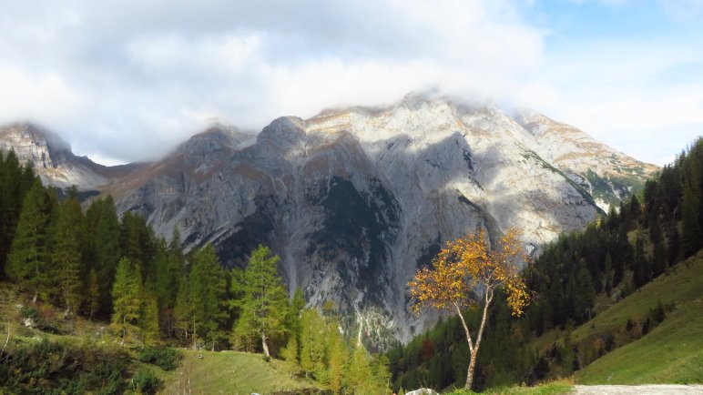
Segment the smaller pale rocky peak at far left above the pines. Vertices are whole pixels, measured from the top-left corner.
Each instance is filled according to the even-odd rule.
[[[94,191],[113,177],[125,176],[139,165],[104,167],[87,157],[76,157],[71,147],[54,133],[31,123],[0,127],[0,150],[15,150],[20,162],[29,162],[46,185],[76,186]]]

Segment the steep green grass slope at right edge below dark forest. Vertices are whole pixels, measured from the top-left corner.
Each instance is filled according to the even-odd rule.
[[[666,319],[621,348],[576,372],[582,384],[703,382],[703,251],[576,329],[573,340],[616,331],[627,319],[643,319],[657,305],[673,304]]]

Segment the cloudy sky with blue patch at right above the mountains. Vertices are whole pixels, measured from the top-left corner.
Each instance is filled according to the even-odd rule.
[[[0,123],[158,157],[438,88],[531,107],[662,165],[703,135],[703,0],[0,0]]]

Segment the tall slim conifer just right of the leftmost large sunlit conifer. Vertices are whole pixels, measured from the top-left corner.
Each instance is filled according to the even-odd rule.
[[[56,274],[57,290],[66,313],[77,311],[81,303],[80,225],[83,213],[76,198],[77,191],[56,208],[56,222],[52,227],[52,267]]]

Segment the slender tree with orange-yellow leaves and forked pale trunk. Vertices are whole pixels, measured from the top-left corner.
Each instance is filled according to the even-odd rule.
[[[509,229],[497,240],[494,248],[487,242],[483,229],[449,241],[434,258],[433,267],[418,270],[408,284],[416,314],[427,308],[448,309],[461,319],[471,353],[464,386],[467,390],[471,389],[474,380],[476,355],[495,289],[504,289],[507,303],[515,316],[522,315],[529,301],[525,281],[519,273],[518,263],[526,257],[518,235],[517,229]],[[479,299],[473,298],[482,293]],[[484,314],[474,338],[462,309],[479,307],[481,299]]]

